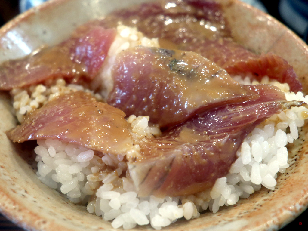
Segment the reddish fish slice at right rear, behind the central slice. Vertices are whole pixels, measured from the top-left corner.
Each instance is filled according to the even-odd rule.
[[[288,83],[290,91],[302,91],[302,83],[298,80],[293,67],[273,53],[256,55],[230,39],[205,40],[182,48],[201,54],[230,75],[249,76],[258,81],[267,75],[280,83]]]

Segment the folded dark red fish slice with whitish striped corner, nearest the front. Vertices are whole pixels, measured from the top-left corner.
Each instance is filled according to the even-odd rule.
[[[293,104],[293,105],[292,105]],[[300,102],[226,105],[196,115],[156,139],[140,142],[128,169],[139,196],[191,195],[227,175],[243,139],[265,118]]]

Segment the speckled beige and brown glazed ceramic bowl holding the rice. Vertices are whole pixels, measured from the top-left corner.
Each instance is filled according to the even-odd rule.
[[[149,1],[149,0],[148,0]],[[221,2],[234,38],[260,54],[273,52],[294,66],[308,93],[308,47],[274,18],[237,0]],[[144,0],[51,0],[31,9],[0,29],[0,62],[29,54],[42,44],[54,45],[89,19]],[[0,212],[29,230],[114,230],[111,223],[74,205],[41,183],[29,164],[26,149],[7,139],[14,127],[9,95],[0,93]],[[262,188],[236,205],[198,219],[180,220],[164,230],[278,230],[308,205],[308,124],[289,146],[286,173],[278,176],[275,190]],[[151,230],[150,226],[133,230]]]

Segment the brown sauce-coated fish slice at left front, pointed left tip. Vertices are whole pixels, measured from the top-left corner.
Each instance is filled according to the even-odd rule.
[[[7,132],[14,142],[55,139],[104,153],[133,150],[124,112],[97,102],[89,93],[61,95],[33,111],[26,120]]]

